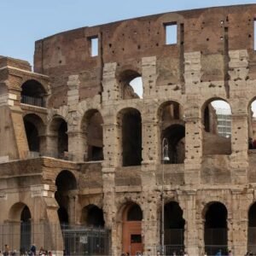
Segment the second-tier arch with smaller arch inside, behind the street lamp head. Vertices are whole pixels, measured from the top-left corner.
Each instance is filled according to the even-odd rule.
[[[177,102],[165,102],[159,108],[158,118],[160,120],[160,141],[166,138],[168,142],[170,160],[165,160],[165,164],[182,164],[185,159],[183,108]]]

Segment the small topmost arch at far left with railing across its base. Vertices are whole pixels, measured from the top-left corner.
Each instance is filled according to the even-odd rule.
[[[21,103],[45,107],[45,96],[43,85],[36,80],[27,80],[21,85]]]

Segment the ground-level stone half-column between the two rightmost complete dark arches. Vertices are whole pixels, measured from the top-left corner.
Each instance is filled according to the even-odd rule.
[[[187,190],[186,195],[180,195],[179,201],[185,219],[184,244],[189,255],[200,255],[198,247],[198,227],[196,224],[196,191]]]

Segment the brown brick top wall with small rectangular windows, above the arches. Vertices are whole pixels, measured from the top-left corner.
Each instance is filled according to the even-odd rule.
[[[141,73],[143,57],[156,56],[157,85],[183,83],[183,55],[201,52],[202,81],[224,80],[228,51],[247,49],[251,79],[256,78],[253,21],[256,4],[195,9],[123,20],[61,32],[36,42],[34,69],[51,78],[52,107],[67,105],[67,79],[79,74],[80,100],[102,91],[102,67]],[[177,24],[177,44],[166,44],[166,24]],[[90,56],[90,38],[99,39],[99,53]]]

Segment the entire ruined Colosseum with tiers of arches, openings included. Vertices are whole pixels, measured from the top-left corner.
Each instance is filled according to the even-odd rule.
[[[1,56],[0,250],[256,253],[255,20],[249,4],[85,26],[38,40],[33,72]]]

